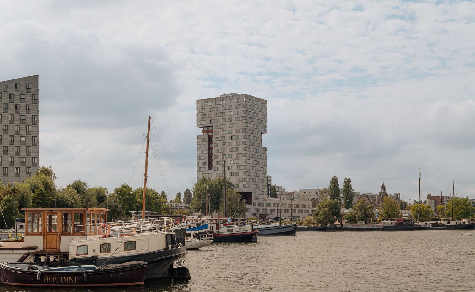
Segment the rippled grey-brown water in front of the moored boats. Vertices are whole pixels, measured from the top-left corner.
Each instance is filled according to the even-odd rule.
[[[190,250],[185,265],[188,282],[47,291],[474,292],[475,237],[450,230],[297,232]],[[45,289],[0,287],[7,291]]]

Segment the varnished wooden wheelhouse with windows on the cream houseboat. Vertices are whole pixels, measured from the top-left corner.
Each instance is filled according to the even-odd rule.
[[[40,251],[68,251],[72,238],[97,235],[105,223],[104,208],[22,208],[25,211],[25,246]]]

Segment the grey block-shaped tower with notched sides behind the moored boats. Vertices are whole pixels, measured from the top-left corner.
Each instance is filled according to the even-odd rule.
[[[252,205],[253,195],[267,196],[267,147],[261,145],[267,133],[267,101],[228,93],[196,101],[196,178],[216,179],[224,175]],[[249,212],[247,212],[249,213]]]

